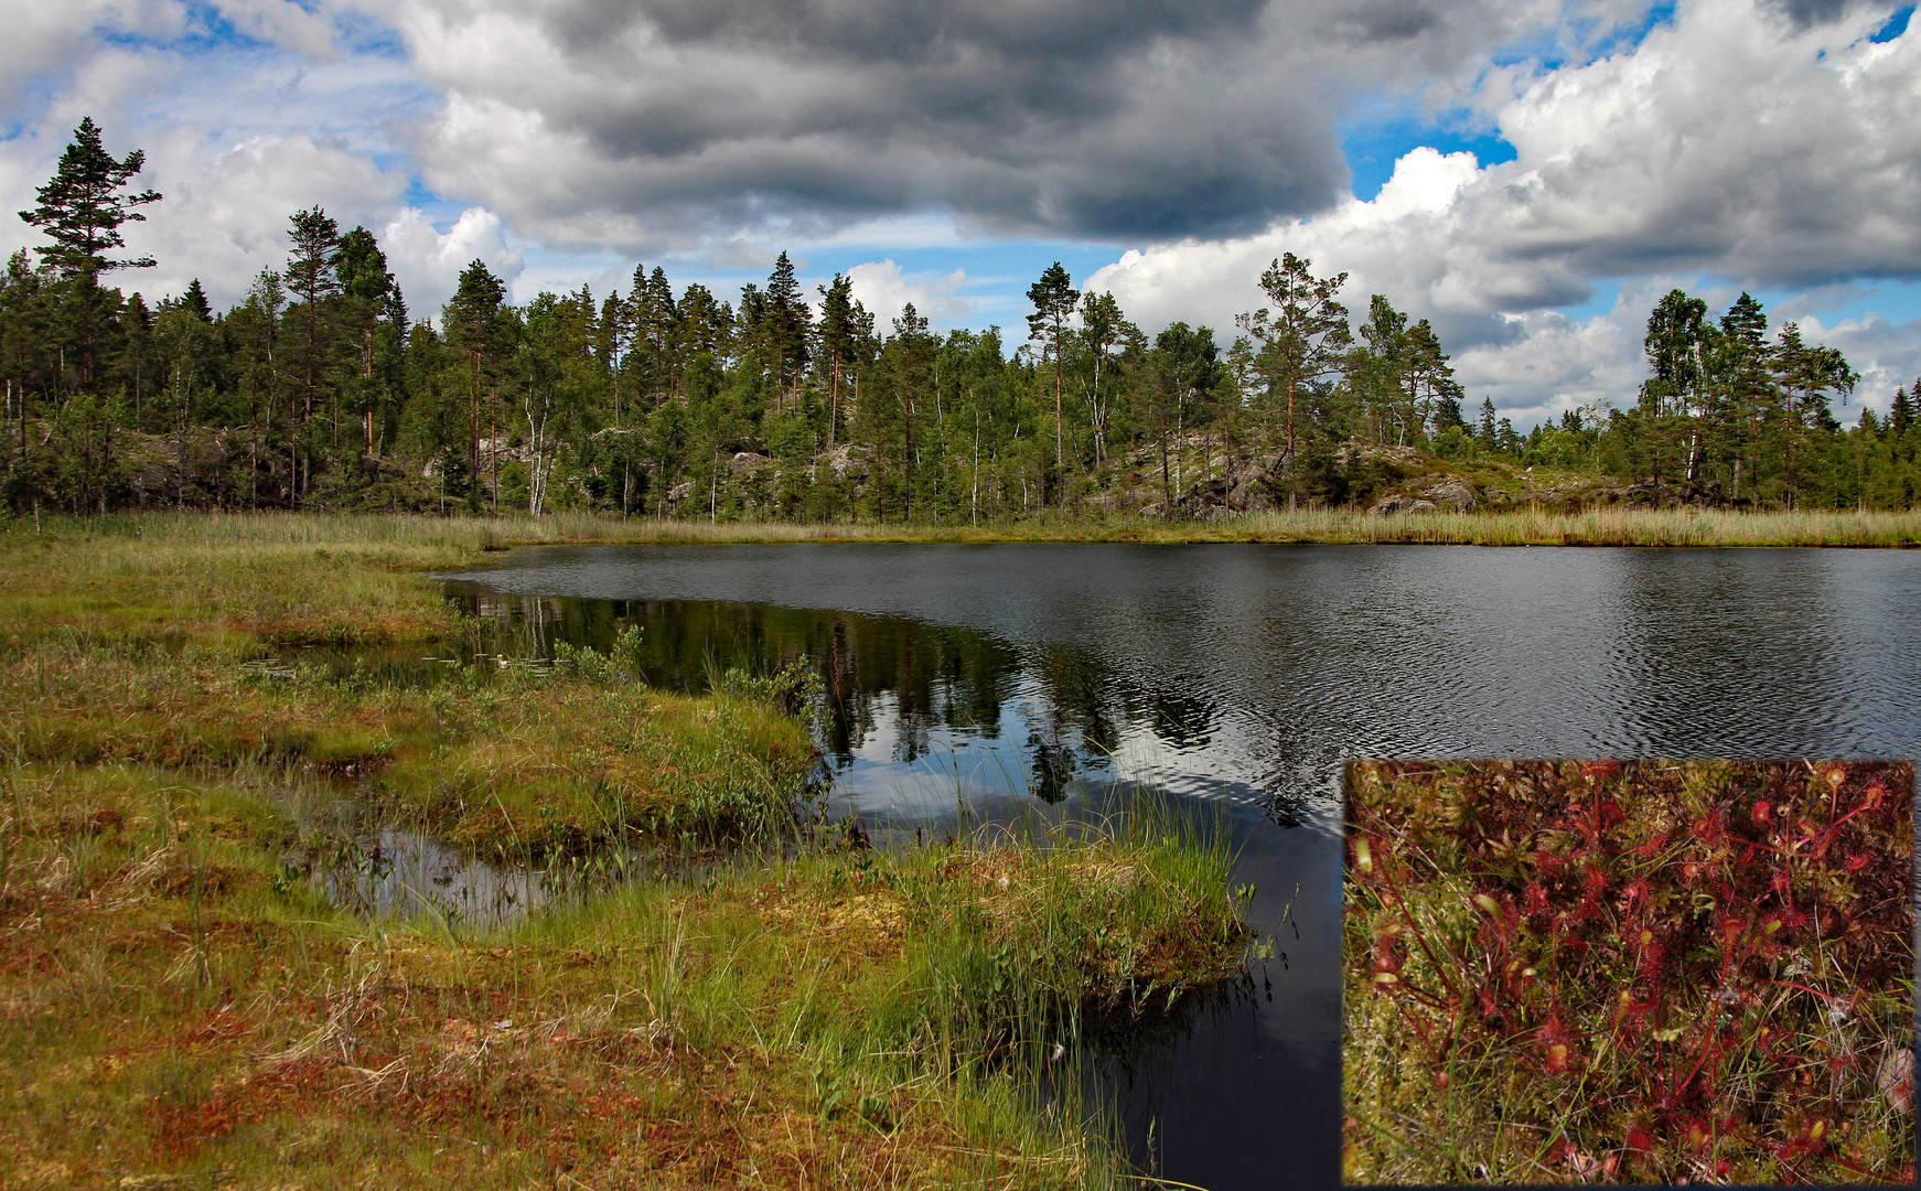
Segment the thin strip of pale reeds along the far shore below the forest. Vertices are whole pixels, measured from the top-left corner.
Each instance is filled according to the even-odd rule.
[[[10,534],[33,534],[15,521]],[[44,519],[42,534],[152,538],[177,557],[246,542],[263,569],[282,551],[340,549],[375,567],[453,569],[505,546],[724,544],[724,542],[1301,542],[1383,546],[1921,546],[1921,511],[1735,513],[1719,509],[1594,509],[1579,513],[1412,513],[1354,509],[1247,513],[1214,521],[1130,517],[1030,519],[999,524],[707,523],[586,513],[526,517],[330,517],[286,513],[129,513]],[[119,557],[119,555],[115,555]],[[313,626],[327,632],[325,622]],[[405,628],[396,624],[394,628]]]

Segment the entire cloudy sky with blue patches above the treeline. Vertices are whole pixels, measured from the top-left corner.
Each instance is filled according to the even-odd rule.
[[[238,302],[321,206],[415,317],[847,273],[1026,334],[1053,261],[1233,336],[1293,252],[1429,319],[1470,407],[1629,405],[1648,311],[1752,292],[1885,411],[1921,377],[1921,27],[1867,0],[12,0],[0,200],[90,115],[150,298]],[[40,236],[0,221],[0,250]]]

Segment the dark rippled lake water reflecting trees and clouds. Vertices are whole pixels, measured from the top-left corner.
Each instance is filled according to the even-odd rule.
[[[1139,1155],[1214,1191],[1339,1181],[1343,759],[1921,753],[1921,553],[580,547],[455,590],[536,640],[636,619],[670,686],[815,661],[876,830],[1135,780],[1214,809],[1287,962],[1114,1072]]]

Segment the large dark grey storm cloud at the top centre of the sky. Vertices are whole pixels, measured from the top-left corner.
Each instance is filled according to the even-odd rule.
[[[517,221],[611,207],[682,236],[889,211],[1028,234],[1251,232],[1345,194],[1343,94],[1418,90],[1535,8],[1558,13],[1544,0],[415,2],[453,33],[478,29],[476,12],[505,17],[557,58],[528,81],[421,54],[450,92],[532,111],[542,134],[588,150],[592,169],[557,165],[582,184]],[[442,165],[455,182],[488,173]]]

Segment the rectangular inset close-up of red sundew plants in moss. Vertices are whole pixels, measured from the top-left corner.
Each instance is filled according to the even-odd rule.
[[[1913,1183],[1913,766],[1356,763],[1345,1174]]]

